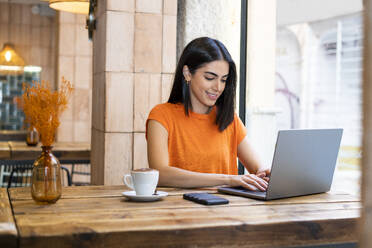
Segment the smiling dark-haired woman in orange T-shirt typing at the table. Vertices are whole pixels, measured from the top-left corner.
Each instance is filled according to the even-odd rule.
[[[234,113],[235,89],[235,63],[220,41],[202,37],[185,47],[168,103],[155,106],[146,123],[159,185],[266,190],[270,170],[260,166]],[[237,157],[249,174],[237,175]]]

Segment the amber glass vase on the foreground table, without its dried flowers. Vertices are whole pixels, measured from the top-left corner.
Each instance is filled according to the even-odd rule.
[[[52,154],[52,146],[42,146],[32,168],[32,198],[39,203],[55,203],[62,194],[61,165]]]

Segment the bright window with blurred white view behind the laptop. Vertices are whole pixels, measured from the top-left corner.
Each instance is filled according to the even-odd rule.
[[[344,128],[339,169],[360,165],[362,24],[357,13],[277,30],[277,127]]]

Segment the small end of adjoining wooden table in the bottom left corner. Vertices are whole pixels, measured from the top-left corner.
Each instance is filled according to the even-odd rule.
[[[8,193],[0,188],[0,247],[17,247],[17,235]]]

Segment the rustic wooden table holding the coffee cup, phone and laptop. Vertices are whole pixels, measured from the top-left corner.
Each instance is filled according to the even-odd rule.
[[[68,187],[56,204],[37,205],[28,188],[10,189],[10,200],[0,189],[0,247],[298,247],[357,241],[361,205],[346,193],[269,202],[223,195],[229,205],[203,206],[182,194],[215,189],[158,190],[169,196],[138,203],[121,196],[124,186]]]

